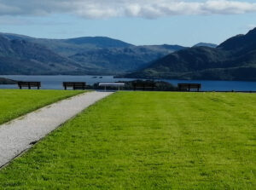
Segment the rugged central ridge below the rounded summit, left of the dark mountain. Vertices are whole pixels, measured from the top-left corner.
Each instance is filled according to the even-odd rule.
[[[152,60],[157,60],[176,50],[184,49],[181,46],[130,46],[126,48],[90,49],[69,58],[82,65],[90,63],[102,67],[106,72],[131,72],[149,66]]]

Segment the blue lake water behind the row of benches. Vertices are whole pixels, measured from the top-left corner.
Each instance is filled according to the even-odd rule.
[[[113,76],[26,76],[2,75],[0,78],[9,78],[22,81],[41,81],[42,89],[63,89],[62,82],[114,83],[118,81],[131,81],[131,78],[113,78]],[[174,85],[177,83],[201,83],[204,91],[256,91],[256,82],[245,81],[204,81],[204,80],[163,80]],[[17,85],[0,85],[0,89],[17,89]]]

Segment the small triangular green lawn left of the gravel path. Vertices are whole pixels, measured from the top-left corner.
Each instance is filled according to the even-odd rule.
[[[0,124],[55,101],[78,95],[74,90],[0,89]]]

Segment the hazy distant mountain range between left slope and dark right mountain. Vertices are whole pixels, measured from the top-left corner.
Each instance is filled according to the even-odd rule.
[[[157,60],[160,57],[168,55],[176,50],[184,49],[184,47],[182,46],[172,46],[166,44],[152,46],[135,46],[131,43],[125,43],[109,37],[44,39],[9,33],[0,33],[0,36],[9,39],[9,41],[23,40],[27,43],[38,44],[38,46],[44,47],[44,49],[48,49],[49,51],[51,51],[51,53],[62,57],[62,59],[68,61],[72,65],[80,66],[82,69],[77,69],[77,71],[81,74],[103,75],[134,72],[138,69],[142,69],[143,67],[148,66],[153,60]],[[33,49],[27,50],[33,52]],[[24,51],[26,51],[26,49],[24,49]],[[34,54],[36,55],[37,53],[34,52]],[[16,60],[9,60],[10,65],[12,61]],[[61,64],[62,61],[60,60],[58,63]],[[34,69],[37,69],[37,67],[35,67]],[[38,69],[38,74],[40,74],[39,70],[41,69]],[[50,73],[63,73],[62,71],[58,71],[61,70],[55,70]],[[32,73],[34,72],[27,72],[27,74]],[[44,73],[45,72],[42,71],[41,74]],[[66,73],[77,72],[69,69]]]

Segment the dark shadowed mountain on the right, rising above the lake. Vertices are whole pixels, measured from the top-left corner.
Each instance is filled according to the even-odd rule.
[[[231,37],[217,48],[182,49],[125,78],[256,81],[256,28]]]

